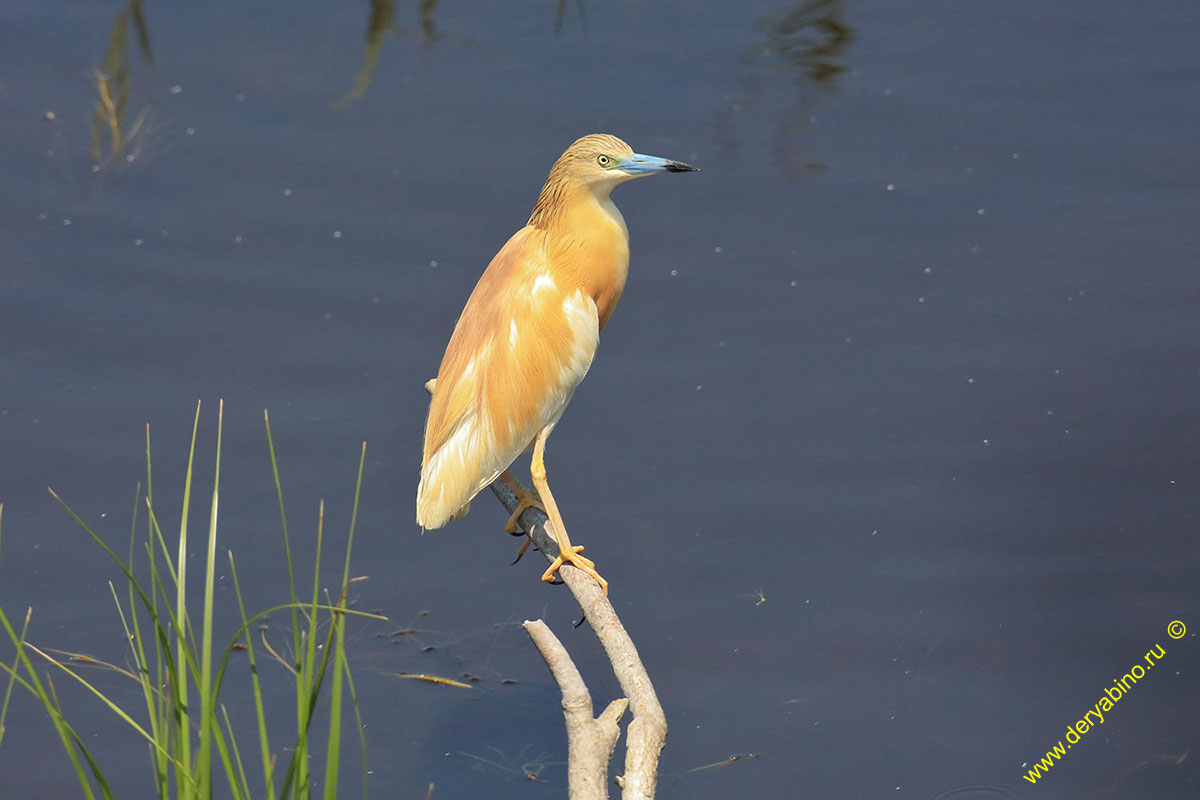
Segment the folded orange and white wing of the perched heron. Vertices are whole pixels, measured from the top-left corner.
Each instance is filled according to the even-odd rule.
[[[520,230],[475,285],[438,369],[418,522],[440,528],[562,416],[599,339],[594,300]]]

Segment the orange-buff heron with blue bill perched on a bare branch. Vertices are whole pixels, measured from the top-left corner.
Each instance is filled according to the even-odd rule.
[[[608,582],[571,545],[546,477],[546,440],[592,366],[600,331],[629,273],[629,229],[610,193],[628,180],[690,173],[680,161],[646,156],[614,136],[593,133],[554,162],[529,221],[492,258],[467,299],[437,378],[426,384],[416,522],[424,530],[466,516],[470,500],[526,450],[538,497],[518,493],[506,529],[529,507],[546,512],[563,564]],[[520,486],[520,485],[517,485]]]

